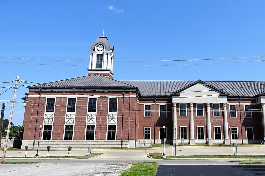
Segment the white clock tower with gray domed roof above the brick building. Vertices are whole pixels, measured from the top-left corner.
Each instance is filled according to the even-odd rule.
[[[88,53],[90,53],[88,75],[100,74],[113,78],[114,46],[109,44],[104,34],[95,40]]]

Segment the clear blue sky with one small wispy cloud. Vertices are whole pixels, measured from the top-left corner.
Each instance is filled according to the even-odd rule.
[[[71,59],[86,62],[0,58],[0,82],[45,83],[87,75],[90,45],[103,28],[115,60],[172,60],[265,55],[264,1],[0,1],[0,57]],[[212,65],[115,67],[220,63],[264,58],[122,63],[117,80],[263,80],[264,62]],[[1,63],[2,62],[2,63]],[[44,66],[42,63],[85,66]],[[1,84],[11,86],[11,84]],[[0,88],[2,93],[5,88]],[[18,89],[16,101],[28,90]],[[12,100],[10,89],[0,100]],[[4,118],[9,118],[11,103]],[[16,103],[13,123],[22,124]]]

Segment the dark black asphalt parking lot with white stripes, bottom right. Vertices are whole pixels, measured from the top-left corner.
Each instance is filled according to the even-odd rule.
[[[265,165],[160,165],[156,176],[265,175]]]

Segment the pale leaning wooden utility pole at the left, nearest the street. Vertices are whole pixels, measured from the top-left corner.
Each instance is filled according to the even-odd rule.
[[[4,152],[3,152],[3,157],[2,157],[2,163],[5,162],[5,158],[6,158],[7,142],[8,142],[9,133],[10,133],[10,128],[11,128],[11,122],[12,122],[14,103],[15,103],[16,93],[17,93],[17,88],[18,88],[19,76],[17,76],[17,78],[16,78],[15,81],[16,81],[16,83],[15,83],[15,88],[14,88],[13,101],[12,101],[12,105],[11,105],[11,111],[10,111],[9,122],[8,122],[7,136],[6,136],[6,140],[5,140],[5,146],[4,146]]]

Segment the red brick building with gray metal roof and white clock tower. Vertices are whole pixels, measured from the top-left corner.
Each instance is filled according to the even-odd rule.
[[[29,86],[24,146],[124,147],[162,143],[259,143],[265,82],[117,81],[105,36],[90,48],[88,75]],[[39,125],[42,128],[39,131]]]

